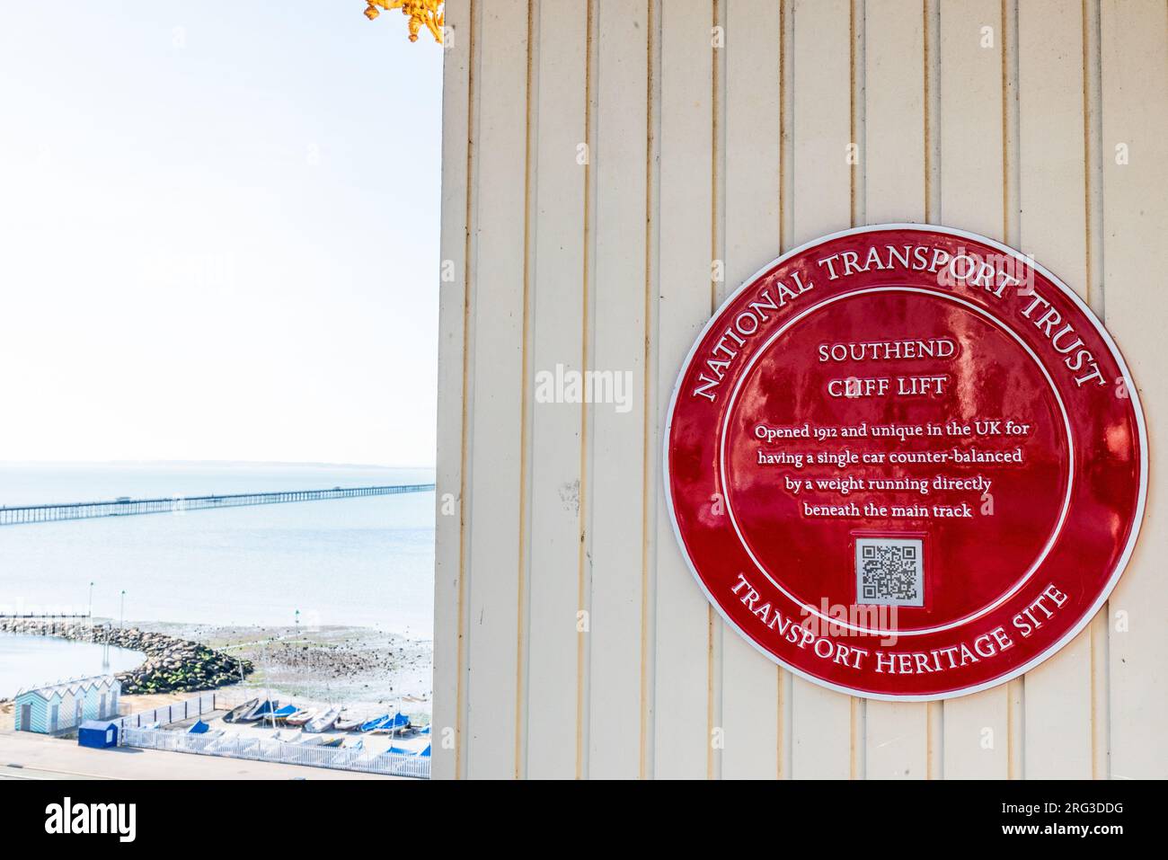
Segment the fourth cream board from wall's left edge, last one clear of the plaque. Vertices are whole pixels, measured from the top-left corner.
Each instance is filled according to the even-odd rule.
[[[597,4],[596,305],[593,365],[626,401],[593,411],[592,596],[588,775],[633,778],[640,733],[645,533],[646,79],[648,5]],[[635,707],[634,707],[635,706]],[[610,731],[613,721],[628,728]]]

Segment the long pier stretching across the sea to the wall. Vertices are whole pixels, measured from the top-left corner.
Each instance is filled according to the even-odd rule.
[[[21,507],[0,507],[0,526],[16,526],[27,522],[58,522],[61,520],[89,520],[98,516],[183,513],[186,511],[243,507],[245,505],[283,505],[292,501],[327,501],[329,499],[357,499],[369,495],[425,493],[433,488],[433,484],[396,484],[378,487],[286,490],[272,493],[235,493],[230,495],[175,495],[162,499],[120,498],[113,501],[26,505]]]

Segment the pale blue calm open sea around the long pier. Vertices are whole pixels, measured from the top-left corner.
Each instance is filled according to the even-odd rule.
[[[423,484],[432,470],[0,465],[0,505]],[[0,527],[0,613],[376,626],[432,637],[433,493]],[[0,652],[2,659],[2,652]]]

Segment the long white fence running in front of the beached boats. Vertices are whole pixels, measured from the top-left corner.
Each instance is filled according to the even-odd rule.
[[[164,709],[165,710],[165,709]],[[181,719],[181,717],[175,717]],[[145,722],[153,722],[144,720]],[[246,737],[242,735],[192,735],[186,731],[140,729],[123,727],[120,742],[127,747],[162,749],[172,752],[195,752],[199,755],[224,756],[227,758],[250,758],[257,762],[281,764],[306,764],[312,768],[334,770],[357,770],[388,776],[412,776],[430,778],[430,757],[390,752],[369,752],[343,747],[307,747],[285,743],[271,737]]]

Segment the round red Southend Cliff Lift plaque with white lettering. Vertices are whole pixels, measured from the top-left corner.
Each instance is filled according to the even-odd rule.
[[[922,224],[774,261],[677,379],[666,498],[690,570],[771,659],[945,699],[1069,641],[1147,494],[1135,386],[1083,301],[992,240]]]

